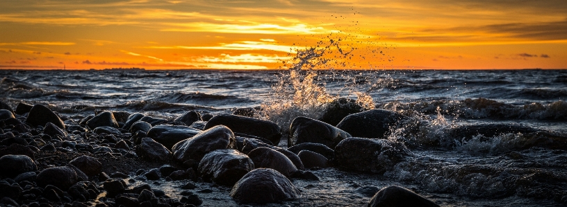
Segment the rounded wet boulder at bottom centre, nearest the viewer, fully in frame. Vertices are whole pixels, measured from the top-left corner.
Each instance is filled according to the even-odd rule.
[[[301,195],[283,174],[273,169],[261,168],[248,172],[234,184],[230,196],[240,204],[266,204],[296,199]]]

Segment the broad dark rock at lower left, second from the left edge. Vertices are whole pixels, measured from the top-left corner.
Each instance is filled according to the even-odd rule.
[[[35,179],[35,183],[37,183],[39,187],[44,188],[47,185],[51,185],[62,190],[69,189],[69,187],[73,186],[77,181],[75,170],[67,166],[44,169]]]

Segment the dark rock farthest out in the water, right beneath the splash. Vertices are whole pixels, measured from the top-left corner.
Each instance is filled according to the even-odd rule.
[[[364,108],[350,98],[338,98],[325,105],[323,115],[319,119],[324,123],[336,126],[346,116],[363,111]]]

